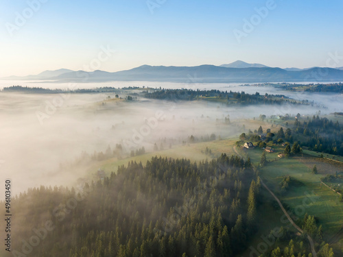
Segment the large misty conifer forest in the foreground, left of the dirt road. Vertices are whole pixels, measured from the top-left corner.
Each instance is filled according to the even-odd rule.
[[[235,256],[255,232],[255,180],[249,161],[222,154],[198,164],[130,162],[80,192],[29,189],[12,201],[12,247],[20,251],[50,220],[54,230],[32,247],[33,256]]]

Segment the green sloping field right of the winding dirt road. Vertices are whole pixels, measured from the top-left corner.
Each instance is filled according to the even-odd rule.
[[[260,175],[265,178],[271,190],[280,192],[282,177],[290,175],[300,182],[299,186],[288,189],[280,199],[292,209],[298,218],[305,213],[318,218],[324,230],[325,238],[330,238],[343,226],[343,203],[339,196],[320,183],[322,175],[314,175],[299,158],[281,159],[268,163],[261,169]]]

